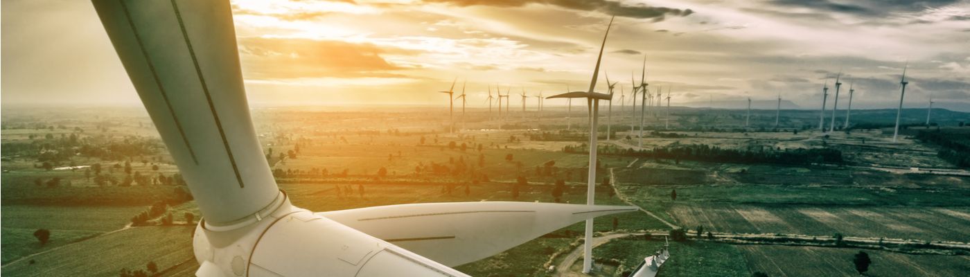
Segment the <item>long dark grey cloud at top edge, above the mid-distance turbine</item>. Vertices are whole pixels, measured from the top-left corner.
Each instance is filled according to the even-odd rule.
[[[632,18],[646,18],[661,21],[670,16],[687,16],[694,14],[691,9],[681,10],[665,7],[653,7],[644,4],[626,5],[609,0],[424,0],[425,3],[447,3],[450,5],[494,6],[494,7],[522,7],[528,4],[553,5],[566,9],[580,11],[596,11],[606,15],[617,15]]]

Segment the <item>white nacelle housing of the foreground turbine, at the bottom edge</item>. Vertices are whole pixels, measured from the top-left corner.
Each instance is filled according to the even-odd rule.
[[[243,266],[247,276],[468,276],[307,210],[277,219]]]

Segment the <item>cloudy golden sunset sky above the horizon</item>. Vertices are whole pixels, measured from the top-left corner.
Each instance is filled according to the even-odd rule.
[[[88,1],[0,3],[4,106],[140,104]],[[908,64],[906,107],[932,97],[934,107],[970,109],[970,0],[231,3],[254,107],[446,106],[436,91],[456,78],[469,108],[487,107],[495,86],[585,90],[616,15],[597,90],[608,76],[628,101],[645,58],[646,81],[674,106],[780,95],[818,108],[841,72],[842,101],[852,84],[854,108],[894,108]]]

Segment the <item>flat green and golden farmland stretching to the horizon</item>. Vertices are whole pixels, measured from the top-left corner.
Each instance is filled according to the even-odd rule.
[[[98,119],[46,117],[69,111]],[[595,230],[604,236],[633,234],[605,241],[595,249],[594,258],[602,265],[597,276],[629,270],[656,250],[663,243],[658,234],[671,229],[662,220],[692,234],[703,227],[724,236],[750,233],[827,238],[840,233],[914,243],[970,242],[970,177],[947,173],[959,169],[937,156],[938,146],[905,137],[902,143],[893,144],[878,129],[823,135],[805,128],[758,131],[679,126],[695,122],[688,120],[696,116],[692,112],[695,110],[680,112],[678,116],[684,120],[676,120],[674,130],[656,132],[656,125],[648,128],[642,148],[637,146],[638,132],[630,132],[621,124],[614,126],[615,139],[601,141],[601,145],[643,153],[673,145],[716,145],[744,151],[828,148],[840,151],[844,162],[776,165],[600,153],[596,202],[635,204],[650,214],[631,212],[596,221]],[[197,220],[201,214],[194,201],[185,200],[178,169],[146,115],[124,109],[67,109],[51,114],[4,114],[4,125],[9,129],[2,136],[5,152],[0,176],[2,273],[111,276],[123,268],[144,269],[147,262],[156,262],[164,276],[191,276],[198,263],[188,239],[191,228],[183,226],[182,215],[189,213]],[[564,112],[549,114],[548,118],[554,118]],[[865,113],[861,114],[865,118]],[[578,112],[572,115],[571,131],[566,130],[565,122],[548,118],[545,122],[531,118],[502,122],[489,116],[471,116],[469,130],[458,134],[443,131],[447,127],[441,118],[446,116],[441,113],[407,108],[372,115],[358,110],[267,108],[255,109],[253,115],[280,189],[295,205],[309,210],[445,201],[553,202],[557,200],[553,191],[559,180],[565,184],[560,201],[586,201],[587,155],[564,151],[566,147],[582,147],[586,136]],[[721,120],[730,118],[735,117]],[[798,120],[811,122],[800,117],[789,119]],[[78,138],[77,142],[71,142],[71,135]],[[601,135],[600,139],[605,137]],[[43,148],[39,145],[44,143],[63,146],[58,149],[89,150],[83,152],[88,154],[72,156],[33,156],[31,151]],[[16,153],[8,153],[7,145],[19,146],[10,148]],[[120,158],[96,151],[130,149],[132,145],[157,147],[146,146],[148,152]],[[100,165],[99,172],[93,169],[96,164]],[[69,166],[81,168],[54,169]],[[143,177],[129,178],[136,172]],[[520,176],[524,177],[523,185],[517,184]],[[57,181],[51,181],[54,179]],[[674,191],[676,200],[671,197]],[[144,227],[126,229],[134,216],[159,202],[168,204],[163,214],[149,219]],[[166,213],[175,215],[173,223],[162,223]],[[47,244],[33,236],[38,229],[51,232]],[[555,271],[547,266],[563,262],[577,246],[582,231],[582,224],[575,224],[457,268],[472,276],[551,276]],[[638,239],[643,232],[655,233],[654,239]],[[130,254],[136,250],[138,255]],[[663,265],[661,276],[750,276],[755,271],[771,276],[806,276],[815,271],[794,268],[808,268],[806,264],[811,262],[827,266],[815,273],[838,276],[851,273],[846,271],[852,268],[845,257],[854,251],[857,249],[738,244],[726,239],[695,239],[692,235],[687,241],[671,241],[673,259]],[[37,255],[17,260],[33,254]],[[970,264],[964,256],[878,250],[870,254],[876,262],[872,272],[883,272],[882,276],[892,275],[885,272],[946,275]],[[794,261],[792,257],[797,255],[806,258]],[[791,264],[791,268],[771,267],[776,263]],[[913,265],[911,269],[889,271],[897,270],[889,263]],[[575,267],[578,264],[567,269],[575,272]]]

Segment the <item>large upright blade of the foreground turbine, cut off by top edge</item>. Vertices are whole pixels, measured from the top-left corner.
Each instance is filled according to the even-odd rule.
[[[268,212],[280,193],[249,116],[229,1],[93,4],[206,223]]]

